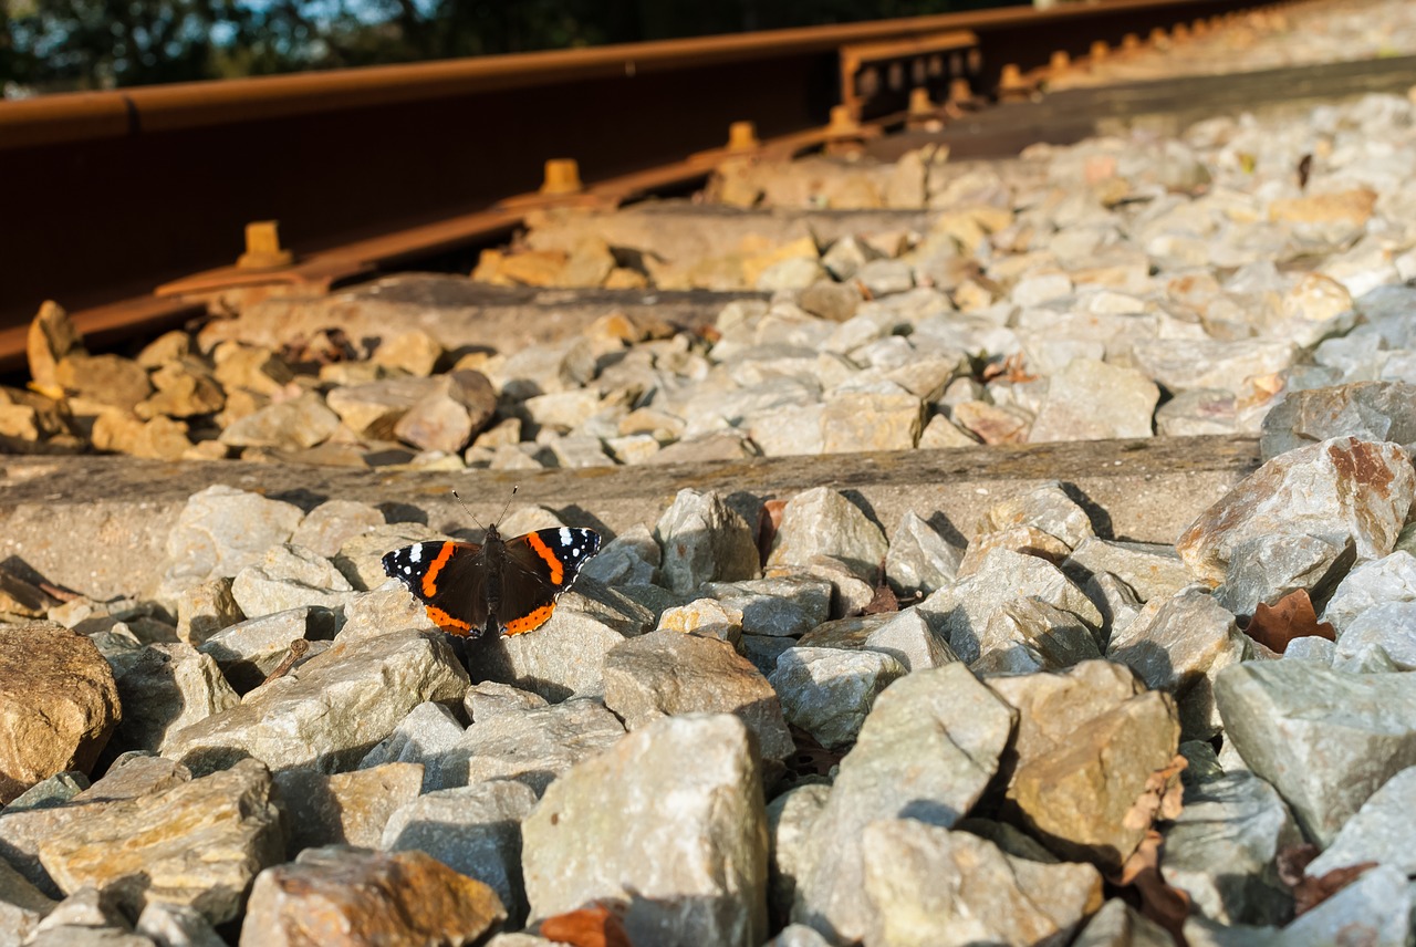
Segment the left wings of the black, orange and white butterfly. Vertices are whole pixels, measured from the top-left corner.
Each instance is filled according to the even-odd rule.
[[[477,637],[487,624],[484,552],[476,542],[415,542],[382,559],[449,634]]]

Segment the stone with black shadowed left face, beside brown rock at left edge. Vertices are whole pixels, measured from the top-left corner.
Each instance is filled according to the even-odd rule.
[[[241,704],[217,661],[187,644],[149,644],[116,679],[116,739],[127,750],[160,753],[169,733]]]

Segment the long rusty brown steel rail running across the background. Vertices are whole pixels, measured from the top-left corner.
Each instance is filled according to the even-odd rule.
[[[848,89],[851,117],[872,117],[920,85],[993,92],[1007,65],[1252,6],[1102,0],[0,102],[0,367],[44,299],[112,333],[190,311],[153,290],[232,282],[253,219],[280,219],[299,251],[290,279],[329,285],[514,226],[506,198],[534,191],[551,157],[578,159],[620,200],[707,173],[688,159],[732,122],[810,144],[852,45],[878,58],[974,44]]]

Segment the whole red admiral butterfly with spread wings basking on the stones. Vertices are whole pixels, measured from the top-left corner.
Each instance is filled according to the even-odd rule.
[[[418,542],[384,556],[384,572],[408,586],[449,634],[523,634],[545,624],[555,599],[600,551],[593,529],[537,529],[503,539],[497,527],[476,542]]]

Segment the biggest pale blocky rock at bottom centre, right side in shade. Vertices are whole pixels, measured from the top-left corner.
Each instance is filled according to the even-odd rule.
[[[760,773],[732,715],[664,718],[630,733],[556,780],[523,834],[534,919],[607,899],[627,902],[633,943],[766,940]]]

